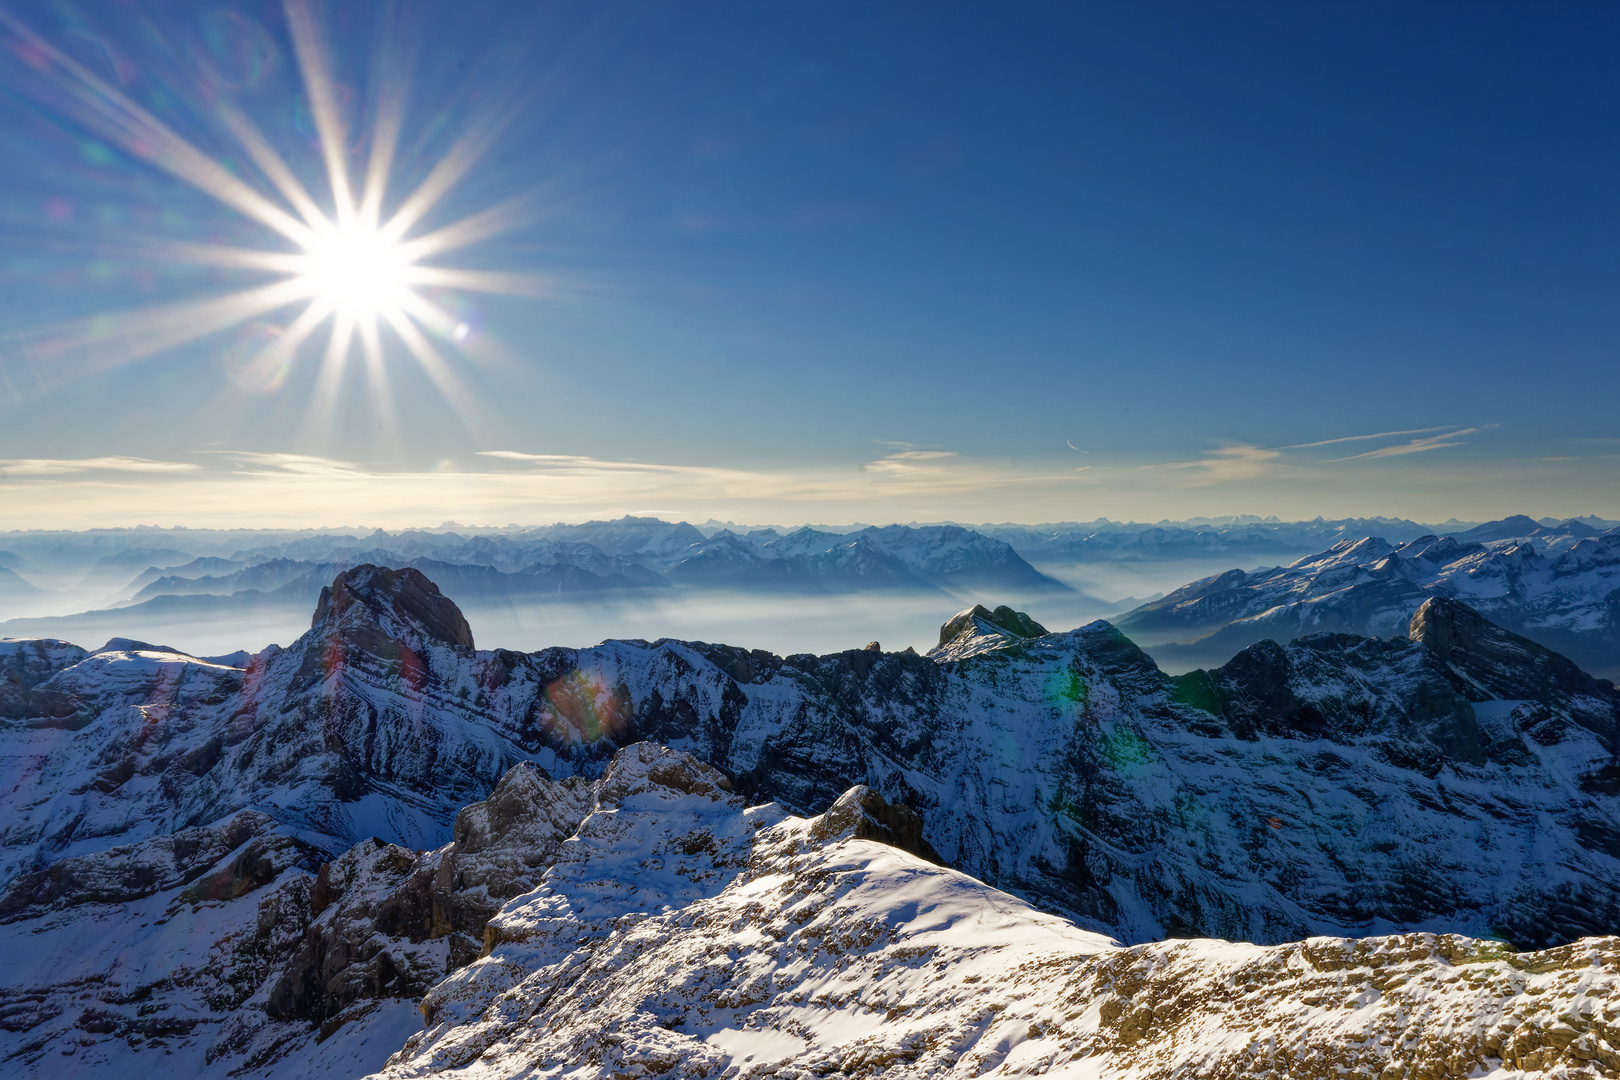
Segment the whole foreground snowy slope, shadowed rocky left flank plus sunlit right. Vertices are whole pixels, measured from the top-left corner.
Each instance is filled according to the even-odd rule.
[[[0,1061],[75,1080],[1620,1072],[1614,938],[1121,947],[935,865],[867,789],[810,818],[729,789],[640,743],[595,782],[515,767],[433,852],[368,840],[237,894],[215,873],[34,913],[0,926]]]

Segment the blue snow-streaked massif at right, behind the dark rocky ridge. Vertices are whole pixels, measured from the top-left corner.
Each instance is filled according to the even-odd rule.
[[[1118,623],[1163,656],[1209,664],[1264,638],[1400,633],[1424,599],[1450,596],[1614,675],[1620,674],[1620,529],[1589,533],[1537,526],[1515,539],[1422,536],[1401,546],[1345,539],[1286,567],[1194,581]]]

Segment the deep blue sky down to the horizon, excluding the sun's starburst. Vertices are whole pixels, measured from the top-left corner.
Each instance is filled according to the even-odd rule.
[[[528,196],[446,264],[543,279],[324,411],[321,334],[240,377],[295,308],[86,335],[285,243],[28,37],[319,201],[287,10],[8,11],[0,525],[1620,517],[1612,5],[316,5],[350,167],[386,62],[386,207],[507,117],[421,228]]]

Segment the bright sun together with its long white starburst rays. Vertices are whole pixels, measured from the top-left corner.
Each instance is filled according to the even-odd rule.
[[[105,371],[180,348],[253,319],[288,313],[285,325],[241,364],[245,382],[272,385],[272,371],[316,348],[311,421],[332,415],[352,355],[358,350],[374,406],[387,411],[389,385],[384,330],[421,368],[444,400],[470,419],[471,398],[460,385],[452,358],[434,338],[460,343],[458,319],[434,303],[424,288],[549,296],[556,282],[515,272],[429,266],[535,219],[531,196],[480,209],[458,220],[415,233],[446,201],[476,162],[496,144],[514,108],[491,108],[449,147],[421,181],[386,212],[394,157],[405,126],[408,57],[390,26],[379,52],[374,79],[374,121],[364,133],[364,162],[350,173],[350,141],[330,52],[308,0],[287,0],[285,16],[303,92],[314,120],[327,193],[311,193],[295,168],[227,94],[209,102],[222,133],[241,149],[258,175],[232,172],[202,149],[133,102],[118,87],[78,63],[19,19],[0,10],[0,28],[11,52],[26,65],[36,97],[131,157],[206,193],[219,204],[271,230],[279,246],[249,248],[217,243],[147,240],[136,244],[146,257],[193,266],[262,272],[275,280],[215,296],[162,306],[102,313],[57,325],[32,337],[36,356],[70,364],[78,374]],[[358,181],[358,189],[356,189]],[[330,199],[330,209],[324,201]],[[457,350],[460,351],[460,350]]]

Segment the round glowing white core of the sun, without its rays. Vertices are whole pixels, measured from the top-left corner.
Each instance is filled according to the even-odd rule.
[[[322,225],[305,241],[296,272],[311,300],[355,324],[399,321],[413,298],[405,244],[355,217]]]

